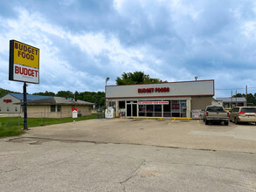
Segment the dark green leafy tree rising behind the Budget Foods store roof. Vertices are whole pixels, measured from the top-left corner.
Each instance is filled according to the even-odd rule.
[[[152,79],[144,72],[123,72],[121,78],[115,79],[116,85],[132,85],[132,84],[147,84],[147,83],[162,83],[161,79]],[[167,82],[167,81],[164,81]]]

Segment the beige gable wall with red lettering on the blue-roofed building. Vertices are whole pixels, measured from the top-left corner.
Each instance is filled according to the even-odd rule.
[[[10,103],[3,102],[3,99],[11,99]],[[20,113],[20,105],[14,104],[19,103],[20,100],[7,94],[0,99],[0,113]],[[7,110],[7,108],[9,110]]]

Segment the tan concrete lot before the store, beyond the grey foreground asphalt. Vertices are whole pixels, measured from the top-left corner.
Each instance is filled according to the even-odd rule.
[[[256,154],[255,125],[205,126],[199,120],[85,120],[33,127],[22,137]]]

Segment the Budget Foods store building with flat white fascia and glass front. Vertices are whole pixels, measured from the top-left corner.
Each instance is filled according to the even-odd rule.
[[[214,80],[106,86],[107,106],[123,117],[191,117],[211,106]]]

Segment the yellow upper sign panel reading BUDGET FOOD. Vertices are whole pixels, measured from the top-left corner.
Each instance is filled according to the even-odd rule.
[[[39,49],[13,41],[13,63],[39,69]]]

